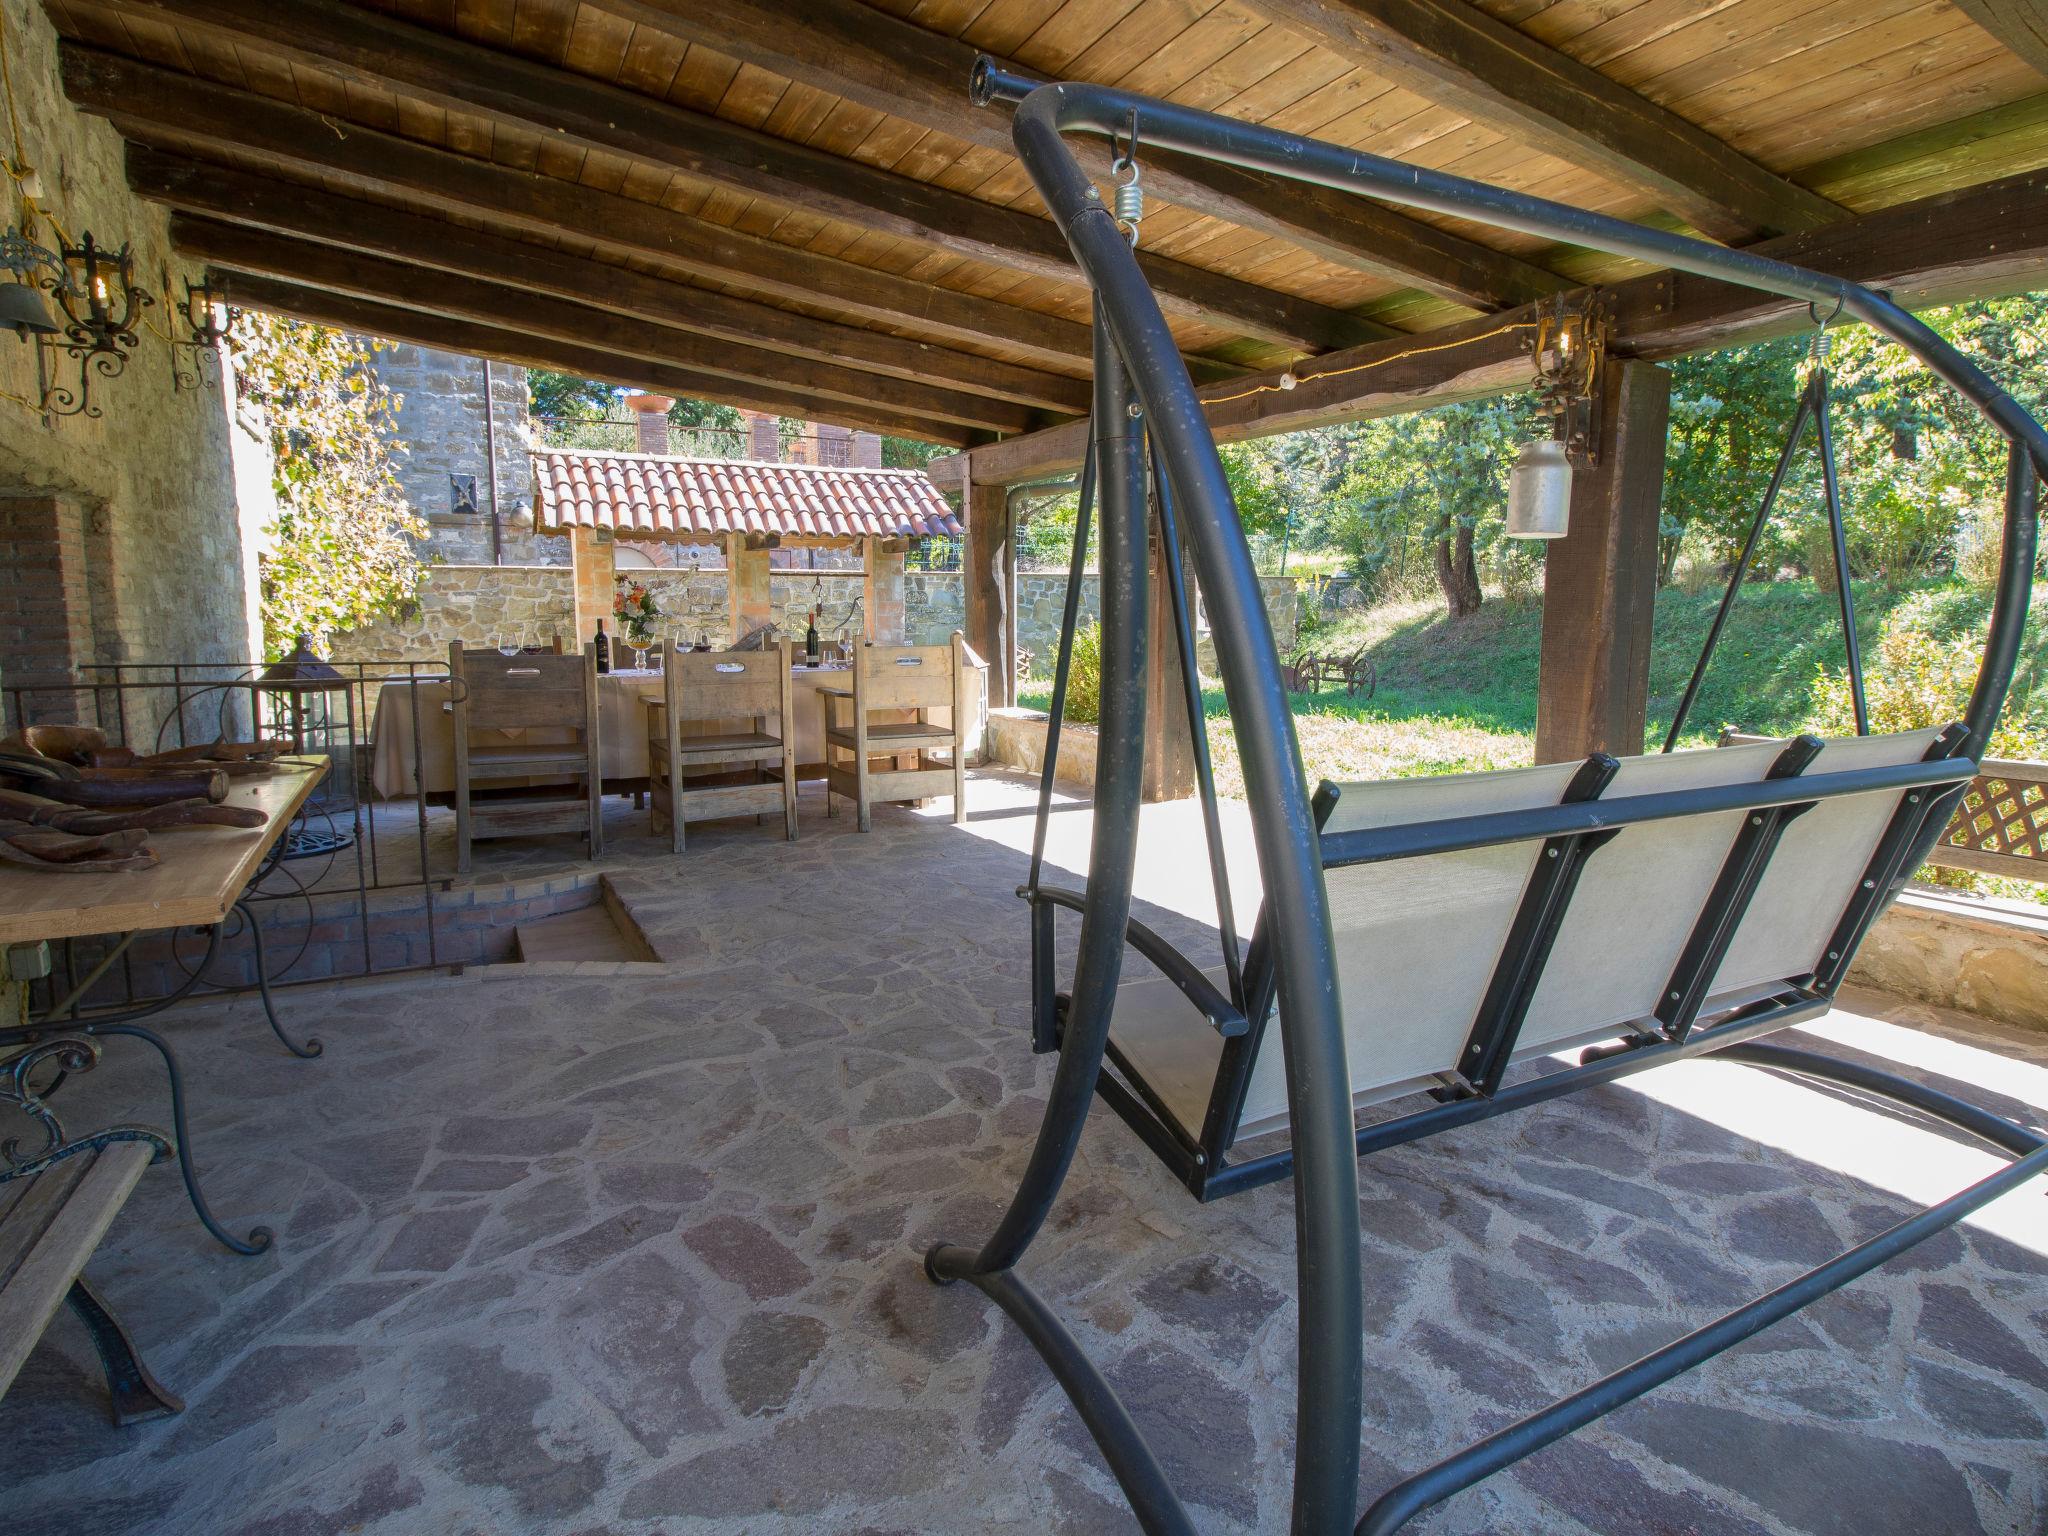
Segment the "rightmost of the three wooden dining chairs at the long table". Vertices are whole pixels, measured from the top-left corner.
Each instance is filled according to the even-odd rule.
[[[825,690],[819,690],[819,705],[825,715],[825,815],[836,815],[831,797],[844,795],[854,803],[860,829],[868,831],[877,801],[952,795],[952,819],[967,821],[969,698],[961,631],[944,645],[854,645],[852,715],[838,717]],[[950,723],[934,723],[934,709],[950,711]],[[940,762],[936,752],[950,756]],[[915,766],[903,766],[907,756],[915,756]]]

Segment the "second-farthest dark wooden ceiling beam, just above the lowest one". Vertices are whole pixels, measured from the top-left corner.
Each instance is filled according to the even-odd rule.
[[[723,375],[856,406],[874,403],[905,418],[956,422],[991,432],[1020,432],[1042,420],[1022,406],[983,395],[963,395],[952,389],[786,356],[758,346],[735,346],[672,326],[649,326],[608,309],[592,309],[565,299],[549,299],[455,272],[391,262],[383,256],[362,256],[340,246],[322,246],[193,213],[170,215],[170,242],[186,256],[236,272],[254,272],[403,309],[422,309],[446,319],[524,332],[539,340],[592,346],[612,356],[641,356],[705,377]]]

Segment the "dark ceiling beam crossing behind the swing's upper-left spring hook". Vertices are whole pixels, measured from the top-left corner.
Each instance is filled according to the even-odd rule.
[[[702,43],[961,143],[1014,154],[1010,115],[975,109],[967,100],[967,78],[979,51],[860,0],[590,2],[635,27]],[[1008,59],[999,63],[1018,70]],[[1090,174],[1108,180],[1108,145],[1085,135],[1069,143]],[[1325,186],[1288,184],[1155,150],[1145,152],[1143,172],[1147,188],[1167,203],[1473,309],[1526,303],[1567,287],[1554,272],[1477,240]]]

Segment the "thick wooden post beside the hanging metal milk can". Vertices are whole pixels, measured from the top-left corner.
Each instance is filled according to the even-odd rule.
[[[1669,373],[1608,360],[1599,463],[1577,467],[1544,561],[1536,762],[1642,752],[1669,408]]]

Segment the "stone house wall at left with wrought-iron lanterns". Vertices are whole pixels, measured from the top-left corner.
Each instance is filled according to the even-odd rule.
[[[0,4],[23,158],[41,176],[43,205],[74,240],[90,229],[102,246],[129,242],[137,287],[158,295],[168,270],[182,295],[199,266],[170,250],[168,213],[129,195],[115,129],[63,100],[43,8],[33,0]],[[18,207],[8,203],[0,223],[16,219]],[[33,238],[57,244],[47,219]],[[233,662],[256,651],[254,553],[242,541],[236,428],[219,375],[172,389],[158,332],[168,332],[176,313],[158,303],[145,319],[125,371],[92,379],[98,416],[45,420],[35,410],[37,348],[12,338],[0,346],[0,500],[31,514],[6,518],[0,578],[10,588],[55,582],[49,590],[63,600],[57,614],[27,614],[8,602],[0,670],[10,686],[78,662]],[[76,385],[76,362],[61,350],[45,356],[53,383]],[[41,557],[49,569],[35,573]],[[135,725],[154,731],[156,723]]]

